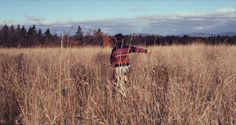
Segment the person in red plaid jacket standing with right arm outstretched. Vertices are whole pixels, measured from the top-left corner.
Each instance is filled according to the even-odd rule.
[[[114,67],[116,88],[125,95],[125,84],[130,70],[129,53],[147,53],[147,49],[123,45],[124,36],[121,33],[115,35],[114,41],[115,47],[111,51],[110,64]]]

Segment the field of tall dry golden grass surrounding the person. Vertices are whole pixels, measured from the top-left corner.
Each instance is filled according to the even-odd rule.
[[[130,55],[125,98],[111,82],[111,49],[0,49],[0,124],[236,124],[236,46],[148,51]]]

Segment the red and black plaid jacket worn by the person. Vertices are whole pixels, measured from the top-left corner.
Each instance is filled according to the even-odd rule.
[[[147,53],[144,48],[138,48],[133,46],[114,47],[110,56],[111,65],[127,66],[129,65],[129,53]]]

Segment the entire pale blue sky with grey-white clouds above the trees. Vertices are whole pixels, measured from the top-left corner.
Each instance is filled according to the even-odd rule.
[[[1,0],[4,24],[107,34],[236,32],[236,0]]]

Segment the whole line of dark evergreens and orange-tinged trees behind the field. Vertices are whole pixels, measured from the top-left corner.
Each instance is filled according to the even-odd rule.
[[[62,37],[52,34],[50,29],[42,31],[37,29],[35,25],[30,26],[28,29],[25,26],[17,25],[4,25],[0,28],[0,47],[58,47],[61,45]],[[132,40],[132,41],[131,41]],[[125,35],[125,43],[132,45],[172,45],[172,44],[236,44],[236,36],[210,36],[210,37],[191,37],[189,35],[183,36],[161,36],[161,35],[142,35],[130,34]],[[101,29],[90,30],[86,33],[78,26],[75,35],[63,35],[63,45],[65,47],[75,46],[111,46],[113,44],[113,36],[107,35]]]

